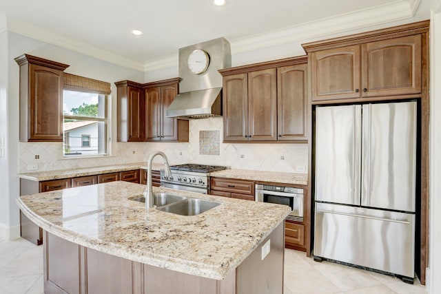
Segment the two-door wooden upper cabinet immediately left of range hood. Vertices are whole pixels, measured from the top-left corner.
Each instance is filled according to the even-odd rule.
[[[188,142],[188,120],[167,118],[165,112],[178,94],[179,79],[145,84],[145,140]]]

